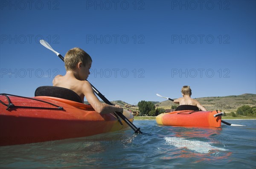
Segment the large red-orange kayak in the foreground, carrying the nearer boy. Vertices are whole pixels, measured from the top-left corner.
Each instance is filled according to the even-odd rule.
[[[128,127],[112,113],[101,115],[90,105],[66,99],[0,96],[0,101],[0,146],[86,137]],[[123,115],[134,121],[129,111]]]

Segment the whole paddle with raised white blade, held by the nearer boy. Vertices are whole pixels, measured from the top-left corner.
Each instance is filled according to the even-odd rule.
[[[47,49],[49,49],[49,50],[51,50],[53,53],[55,53],[55,54],[64,62],[64,57],[61,56],[61,54],[59,54],[58,52],[56,52],[56,51],[49,45],[49,43],[47,43],[47,42],[44,41],[43,39],[40,40],[40,43],[41,43],[41,45],[43,45],[44,47],[46,47]],[[90,83],[90,82],[89,82],[89,83]],[[109,104],[109,105],[112,105],[112,106],[113,106],[113,104],[112,104],[110,101],[108,101],[108,99],[105,98],[105,96],[103,96],[102,93],[99,92],[99,90],[97,90],[92,84],[90,84],[90,85],[92,86],[94,92],[95,92],[106,104]],[[115,112],[115,113],[116,113],[117,115],[119,115],[119,117],[121,117],[121,118],[123,119],[123,121],[125,121],[125,123],[127,123],[128,126],[130,126],[130,127],[134,130],[135,133],[142,134],[142,132],[140,131],[140,128],[137,128],[131,121],[128,120],[128,118],[125,117],[125,115],[123,115],[123,114],[120,113],[120,112]],[[119,119],[119,118],[117,117],[117,119]],[[119,122],[121,122],[121,121],[119,120]],[[122,124],[122,122],[121,122],[121,124]]]

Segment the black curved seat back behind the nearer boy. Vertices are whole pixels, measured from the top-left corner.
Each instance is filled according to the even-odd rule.
[[[67,99],[67,100],[83,103],[81,101],[81,98],[76,92],[64,87],[40,86],[35,90],[35,96],[57,97],[61,99]]]

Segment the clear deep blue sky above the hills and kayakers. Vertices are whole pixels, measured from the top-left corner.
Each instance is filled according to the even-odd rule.
[[[256,93],[256,1],[0,1],[0,92],[34,96],[65,74],[74,47],[93,59],[88,81],[137,104]]]

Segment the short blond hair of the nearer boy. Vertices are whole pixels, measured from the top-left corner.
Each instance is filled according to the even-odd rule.
[[[84,66],[92,63],[92,58],[81,48],[72,48],[67,51],[64,57],[66,70],[74,70],[79,62],[82,62]]]

